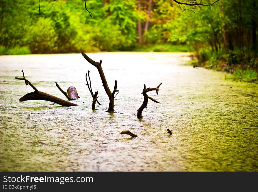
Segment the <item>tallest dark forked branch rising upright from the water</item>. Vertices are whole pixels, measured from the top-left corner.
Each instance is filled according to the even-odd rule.
[[[99,71],[99,75],[100,75],[100,78],[101,78],[101,81],[102,81],[102,84],[103,84],[103,87],[106,91],[106,94],[108,95],[108,98],[109,98],[109,106],[108,106],[108,110],[107,112],[114,112],[114,106],[115,106],[115,93],[116,92],[119,92],[117,89],[117,81],[115,80],[115,86],[114,86],[114,90],[113,92],[110,91],[109,87],[108,87],[108,83],[106,81],[106,77],[104,75],[104,72],[102,70],[102,67],[101,67],[101,63],[102,63],[102,60],[100,60],[100,62],[96,62],[94,60],[92,60],[91,58],[89,58],[85,53],[82,52],[82,56],[93,66],[95,66],[98,71]]]

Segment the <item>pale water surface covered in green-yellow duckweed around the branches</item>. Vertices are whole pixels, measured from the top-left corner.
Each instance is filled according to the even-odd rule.
[[[187,53],[88,53],[102,60],[108,85],[117,80],[116,113],[107,113],[97,69],[81,54],[0,56],[1,171],[257,171],[258,85],[231,82],[224,73],[193,68]],[[79,104],[62,107],[19,98],[33,89],[65,99],[76,87]],[[99,102],[85,74],[90,70]],[[160,86],[143,101],[143,84]],[[84,102],[84,103],[83,103]],[[4,106],[3,106],[4,105]],[[173,135],[167,133],[172,129]],[[121,135],[130,130],[138,137]]]

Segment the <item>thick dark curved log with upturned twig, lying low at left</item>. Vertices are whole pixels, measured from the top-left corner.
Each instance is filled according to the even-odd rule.
[[[31,82],[29,82],[28,79],[26,79],[24,77],[23,70],[21,70],[21,72],[23,73],[23,78],[15,77],[15,79],[24,80],[25,84],[30,85],[30,87],[32,87],[35,91],[31,92],[31,93],[27,93],[26,95],[22,96],[19,101],[44,100],[44,101],[51,101],[53,103],[57,103],[62,106],[76,106],[77,105],[75,103],[65,101],[65,100],[55,97],[53,95],[38,91],[38,89],[36,89],[36,87]]]

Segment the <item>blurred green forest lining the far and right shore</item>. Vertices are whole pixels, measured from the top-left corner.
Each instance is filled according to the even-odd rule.
[[[181,1],[183,2],[183,1]],[[187,1],[189,2],[189,1]],[[213,1],[203,1],[212,3]],[[0,54],[189,51],[194,67],[257,83],[256,0],[0,0]]]

